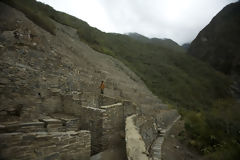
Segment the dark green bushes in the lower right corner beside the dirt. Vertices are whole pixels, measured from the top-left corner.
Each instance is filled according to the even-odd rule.
[[[212,108],[182,110],[188,142],[209,159],[237,159],[240,151],[240,108],[232,98],[216,100]]]

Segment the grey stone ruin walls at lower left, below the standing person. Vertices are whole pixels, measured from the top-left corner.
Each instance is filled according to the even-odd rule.
[[[66,104],[74,104],[76,108],[68,110],[68,115],[64,112],[49,112],[51,117],[56,118],[46,116],[47,118],[26,123],[2,122],[0,138],[5,140],[0,141],[0,146],[5,149],[1,150],[1,157],[5,159],[66,159],[69,156],[73,157],[72,159],[87,160],[90,155],[122,143],[125,137],[125,117],[136,113],[136,105],[127,100],[121,102],[118,100],[119,103],[105,105],[115,102],[116,99],[100,95],[95,101],[102,98],[103,105],[88,107],[81,106],[79,100],[75,100],[75,96],[72,98],[69,95],[65,97],[55,94],[54,96],[61,97],[61,101],[57,102],[60,108],[61,106],[64,108]],[[39,137],[47,140],[43,146],[43,140]],[[18,141],[15,141],[15,138]],[[12,145],[6,145],[8,141]],[[23,155],[18,152],[11,155],[10,151],[14,147],[29,150],[26,149]],[[37,154],[35,150],[40,151]]]

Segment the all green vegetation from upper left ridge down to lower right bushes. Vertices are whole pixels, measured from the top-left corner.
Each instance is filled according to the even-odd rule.
[[[185,119],[187,143],[202,154],[216,160],[240,157],[240,109],[229,94],[231,80],[225,75],[187,55],[171,40],[104,33],[34,0],[7,3],[50,33],[55,33],[55,27],[52,31],[46,27],[53,25],[50,18],[77,29],[79,38],[93,49],[125,63],[154,94],[176,106]],[[38,17],[32,16],[35,11]]]

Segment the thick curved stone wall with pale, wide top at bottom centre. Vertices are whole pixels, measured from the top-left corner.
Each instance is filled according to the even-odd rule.
[[[128,159],[150,159],[152,144],[158,136],[155,119],[132,115],[126,118],[125,141]]]

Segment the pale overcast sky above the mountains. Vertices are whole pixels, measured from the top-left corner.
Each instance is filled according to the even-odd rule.
[[[39,0],[104,32],[191,42],[227,4],[237,0]]]

